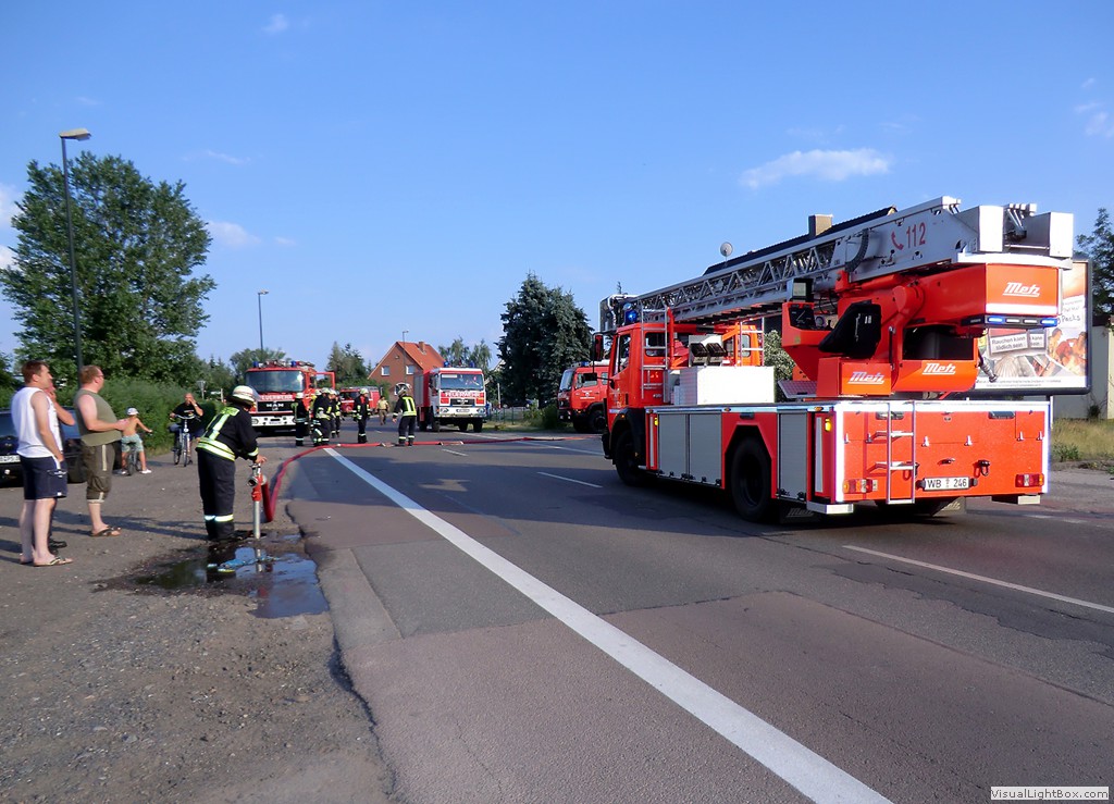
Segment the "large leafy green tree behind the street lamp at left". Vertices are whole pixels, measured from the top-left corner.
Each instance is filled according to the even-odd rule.
[[[120,157],[81,153],[70,170],[81,352],[109,375],[179,381],[196,367],[202,302],[215,283],[194,276],[209,236],[185,185],[154,184]],[[29,188],[12,226],[3,295],[22,326],[22,355],[75,374],[74,303],[62,170],[28,165]]]

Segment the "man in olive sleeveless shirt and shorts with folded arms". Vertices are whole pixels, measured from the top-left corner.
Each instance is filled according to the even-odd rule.
[[[100,507],[113,488],[113,461],[116,442],[127,426],[127,419],[117,419],[111,405],[100,395],[105,388],[105,372],[98,365],[81,369],[78,378],[81,388],[74,396],[77,425],[81,432],[81,460],[85,462],[85,499],[89,503],[91,536],[119,536],[120,529],[105,523]]]

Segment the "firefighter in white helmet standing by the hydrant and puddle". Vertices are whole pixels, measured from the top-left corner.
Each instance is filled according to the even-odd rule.
[[[197,440],[197,478],[209,542],[228,542],[236,538],[232,517],[236,501],[236,459],[246,458],[255,463],[267,460],[260,454],[248,413],[255,404],[255,392],[247,385],[237,385],[229,402]]]

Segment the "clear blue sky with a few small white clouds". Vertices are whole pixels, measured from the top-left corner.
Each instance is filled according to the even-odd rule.
[[[494,344],[616,283],[941,195],[1114,208],[1114,3],[8,2],[0,263],[32,160],[184,182],[202,356]],[[68,314],[63,312],[62,314]],[[0,301],[0,351],[17,342]]]

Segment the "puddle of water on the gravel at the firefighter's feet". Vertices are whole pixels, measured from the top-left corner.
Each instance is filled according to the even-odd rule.
[[[165,591],[246,591],[256,601],[252,614],[268,619],[323,614],[329,605],[317,585],[316,563],[295,552],[271,555],[266,550],[267,545],[281,547],[299,538],[268,539],[257,546],[202,547],[190,558],[152,568],[153,572],[130,581]]]

